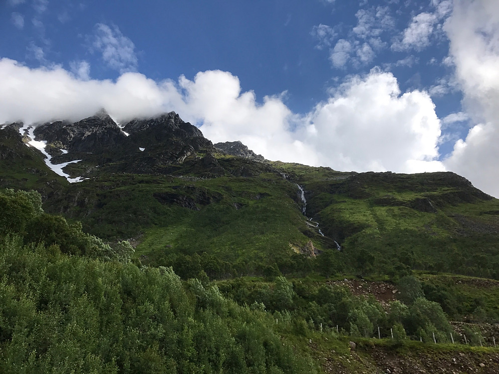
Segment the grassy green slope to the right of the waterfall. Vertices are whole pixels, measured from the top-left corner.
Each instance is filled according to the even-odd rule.
[[[352,258],[363,249],[372,253],[381,273],[401,262],[415,269],[499,276],[499,200],[460,177],[274,166],[304,186],[309,214],[322,230]]]

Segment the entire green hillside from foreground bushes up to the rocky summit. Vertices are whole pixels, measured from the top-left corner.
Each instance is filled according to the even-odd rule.
[[[499,200],[466,179],[233,156],[172,113],[57,126],[83,182],[0,130],[0,372],[499,370]]]

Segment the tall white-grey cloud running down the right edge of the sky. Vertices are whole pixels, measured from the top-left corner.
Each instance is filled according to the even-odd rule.
[[[454,2],[445,24],[463,104],[475,124],[446,166],[499,196],[499,9],[493,0]]]

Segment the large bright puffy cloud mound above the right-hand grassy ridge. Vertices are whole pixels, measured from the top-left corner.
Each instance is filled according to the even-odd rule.
[[[391,73],[354,77],[310,114],[321,164],[337,170],[421,172],[444,170],[438,158],[440,121],[428,94],[400,95]]]

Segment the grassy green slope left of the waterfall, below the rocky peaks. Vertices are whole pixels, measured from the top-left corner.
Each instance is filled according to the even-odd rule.
[[[290,243],[321,236],[306,224],[298,189],[276,173],[256,177],[190,179],[170,176],[109,175],[68,187],[68,196],[50,207],[80,219],[90,232],[107,238],[142,234],[137,254],[193,254],[206,251],[224,260],[292,253]],[[196,198],[199,211],[162,204],[154,193]]]

